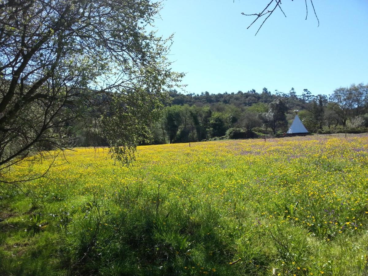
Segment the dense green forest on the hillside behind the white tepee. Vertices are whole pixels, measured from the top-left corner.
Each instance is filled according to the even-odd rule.
[[[368,85],[341,87],[327,95],[299,96],[271,93],[263,88],[237,93],[201,95],[167,91],[169,99],[142,144],[166,144],[211,139],[255,138],[283,135],[294,119],[294,110],[310,133],[367,132]],[[78,145],[89,145],[89,135],[79,133]]]

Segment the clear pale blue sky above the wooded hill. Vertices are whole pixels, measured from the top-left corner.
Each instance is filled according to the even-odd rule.
[[[283,0],[261,24],[247,26],[269,0],[166,0],[155,25],[174,33],[169,59],[185,72],[187,93],[228,93],[294,87],[329,95],[340,86],[368,82],[368,1]]]

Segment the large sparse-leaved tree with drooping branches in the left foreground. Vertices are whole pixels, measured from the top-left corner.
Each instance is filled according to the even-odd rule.
[[[182,74],[149,32],[148,0],[4,0],[0,5],[0,170],[73,145],[72,125],[99,133],[123,162]],[[47,147],[45,147],[47,145]]]

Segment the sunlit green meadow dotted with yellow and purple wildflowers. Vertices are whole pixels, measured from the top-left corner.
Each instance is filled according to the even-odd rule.
[[[368,135],[78,148],[0,188],[0,275],[367,275]],[[10,178],[47,169],[18,167]]]

